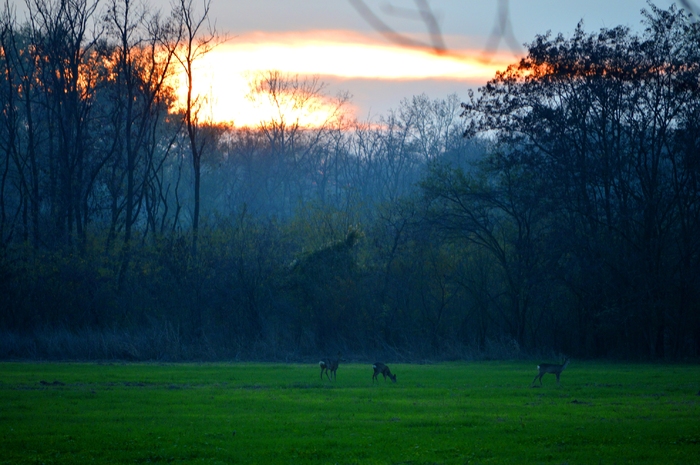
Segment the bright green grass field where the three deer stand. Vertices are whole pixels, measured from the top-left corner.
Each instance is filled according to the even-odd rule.
[[[0,364],[0,464],[700,463],[700,368]]]

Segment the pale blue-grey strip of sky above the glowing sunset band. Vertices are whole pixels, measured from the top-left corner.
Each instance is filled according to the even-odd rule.
[[[159,0],[163,1],[163,0]],[[366,0],[376,12],[386,5],[414,9],[412,0]],[[443,32],[484,38],[493,27],[497,0],[431,0]],[[614,27],[618,24],[637,26],[639,12],[646,0],[510,0],[513,30],[521,41],[548,29],[571,31],[580,19],[588,28]],[[666,8],[669,0],[656,2]],[[217,26],[230,32],[251,30],[347,29],[372,32],[348,0],[213,0],[212,15]],[[420,22],[384,14],[387,22],[406,32],[421,32]]]

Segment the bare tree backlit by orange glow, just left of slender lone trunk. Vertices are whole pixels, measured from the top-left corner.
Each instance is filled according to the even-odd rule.
[[[111,179],[113,184],[121,185],[126,177],[123,203],[120,205],[118,198],[112,202],[110,227],[112,237],[123,209],[121,286],[130,260],[132,228],[139,217],[146,185],[158,171],[154,167],[164,162],[164,157],[154,159],[154,152],[158,127],[167,111],[166,79],[172,73],[174,47],[163,49],[161,44],[177,44],[179,37],[172,24],[163,23],[158,14],[149,14],[140,0],[110,0],[104,19],[108,37],[114,39],[113,47],[106,52],[114,63],[111,72],[115,81],[110,119],[114,129],[111,151],[117,172]],[[121,197],[121,189],[111,190]]]

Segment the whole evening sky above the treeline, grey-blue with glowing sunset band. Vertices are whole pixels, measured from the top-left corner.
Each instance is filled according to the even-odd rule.
[[[143,1],[169,11],[173,0]],[[655,0],[661,8],[671,3]],[[423,4],[440,30],[432,37],[440,39],[442,54],[406,44],[436,43],[417,13]],[[195,90],[206,96],[210,118],[239,126],[254,125],[269,111],[260,99],[246,97],[256,73],[318,75],[327,103],[348,93],[351,115],[376,120],[414,95],[466,99],[469,89],[517,62],[522,44],[537,34],[570,35],[579,21],[589,32],[618,25],[641,29],[640,11],[648,8],[647,0],[211,0],[210,5],[209,18],[227,40],[200,60]],[[503,7],[507,16],[499,15]],[[382,34],[377,21],[396,35]]]

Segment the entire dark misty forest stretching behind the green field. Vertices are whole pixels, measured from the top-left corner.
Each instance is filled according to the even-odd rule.
[[[371,122],[339,96],[301,125],[285,99],[322,83],[270,71],[251,89],[280,111],[239,128],[176,105],[215,46],[191,1],[4,5],[0,358],[700,355],[683,10],[537,36],[468,101]]]

